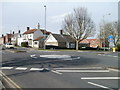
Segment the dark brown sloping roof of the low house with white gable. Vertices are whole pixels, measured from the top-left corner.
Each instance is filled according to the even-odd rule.
[[[52,34],[52,35],[58,42],[75,42],[75,40],[69,35],[61,35],[61,34]]]

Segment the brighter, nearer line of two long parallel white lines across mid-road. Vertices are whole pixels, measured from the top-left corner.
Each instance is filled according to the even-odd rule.
[[[109,70],[56,70],[58,72],[109,72]]]

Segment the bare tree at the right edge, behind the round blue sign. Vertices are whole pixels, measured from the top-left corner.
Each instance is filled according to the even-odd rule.
[[[104,23],[100,26],[100,41],[105,42],[106,46],[108,46],[108,36],[113,35],[114,44],[117,45],[119,41],[118,36],[118,22],[108,22]]]

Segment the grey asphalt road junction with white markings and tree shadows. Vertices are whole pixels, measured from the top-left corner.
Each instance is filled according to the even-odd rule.
[[[118,53],[84,51],[2,52],[2,71],[21,88],[118,90]]]

